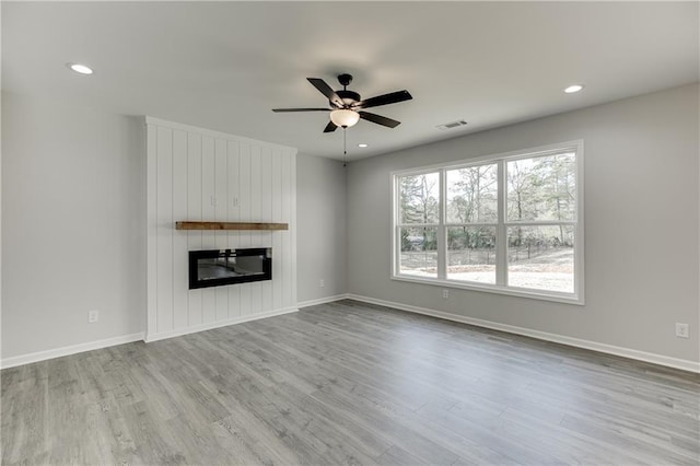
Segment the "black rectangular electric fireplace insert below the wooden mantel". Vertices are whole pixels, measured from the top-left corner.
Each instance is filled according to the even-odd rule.
[[[189,252],[189,289],[272,280],[272,248]]]

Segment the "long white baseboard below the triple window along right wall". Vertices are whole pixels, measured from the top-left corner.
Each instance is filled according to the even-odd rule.
[[[408,304],[395,303],[393,301],[377,300],[374,298],[361,296],[358,294],[348,294],[346,298],[350,300],[361,301],[381,306],[394,307],[401,311],[412,312],[417,314],[430,315],[432,317],[444,318],[446,321],[460,322],[477,327],[491,328],[493,330],[505,331],[509,334],[523,335],[526,337],[537,338],[539,340],[552,341],[556,343],[568,345],[570,347],[583,348],[593,351],[599,351],[608,354],[620,356],[622,358],[634,359],[638,361],[651,362],[668,368],[680,369],[684,371],[700,373],[700,362],[688,361],[685,359],[669,358],[663,354],[655,354],[635,349],[617,347],[614,345],[599,343],[597,341],[582,340],[580,338],[567,337],[563,335],[549,334],[547,331],[533,330],[530,328],[516,327],[513,325],[499,324],[498,322],[483,321],[480,318],[465,317],[457,314],[446,313],[442,311],[418,307]]]

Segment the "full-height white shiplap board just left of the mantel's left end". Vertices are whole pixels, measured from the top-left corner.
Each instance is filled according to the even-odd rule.
[[[173,130],[158,128],[158,331],[173,329]]]

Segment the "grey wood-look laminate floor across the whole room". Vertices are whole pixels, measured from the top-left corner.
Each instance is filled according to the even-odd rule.
[[[3,370],[2,464],[699,464],[697,375],[353,301]]]

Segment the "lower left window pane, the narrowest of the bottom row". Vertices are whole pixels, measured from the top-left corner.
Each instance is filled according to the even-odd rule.
[[[400,229],[399,273],[438,277],[438,229]]]

